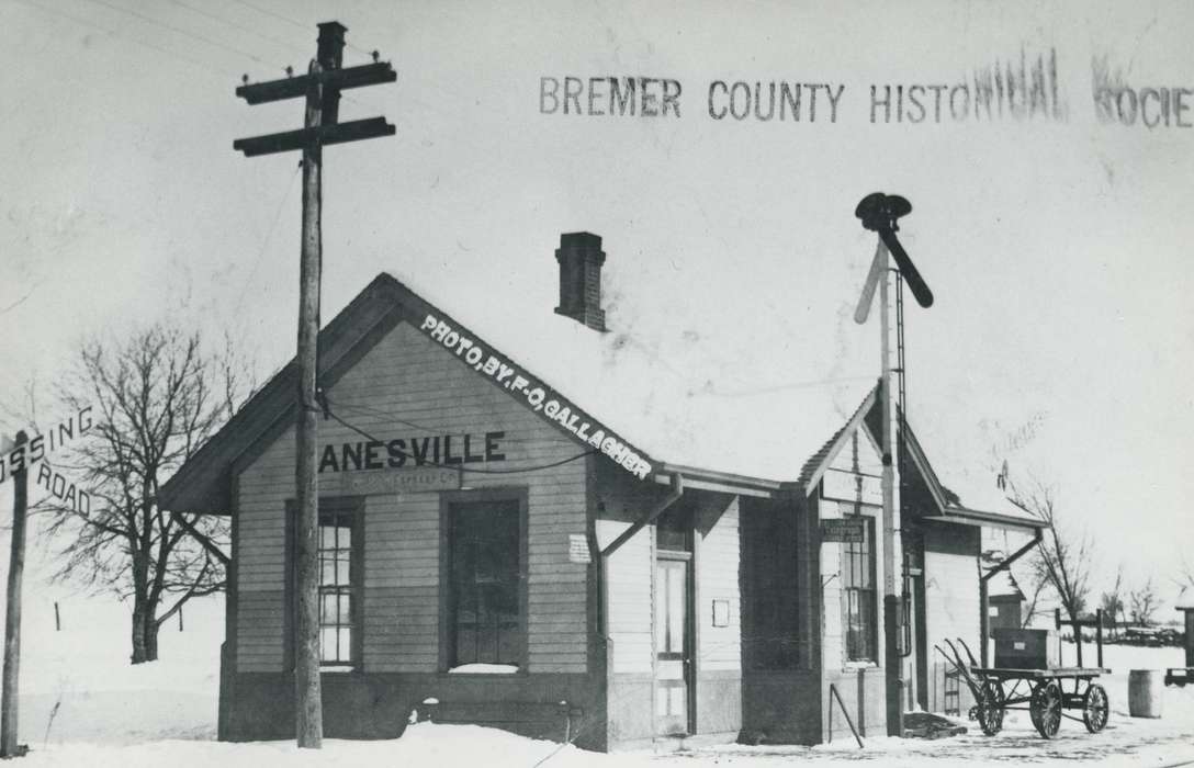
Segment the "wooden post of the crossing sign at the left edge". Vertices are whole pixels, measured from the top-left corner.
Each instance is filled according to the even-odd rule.
[[[29,442],[25,430],[17,444]],[[12,557],[8,560],[8,607],[4,622],[4,700],[0,704],[0,757],[19,757],[17,744],[17,696],[20,681],[20,579],[25,571],[25,514],[29,508],[29,469],[13,472]]]

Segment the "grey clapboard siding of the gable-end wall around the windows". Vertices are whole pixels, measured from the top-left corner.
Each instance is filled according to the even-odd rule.
[[[328,397],[338,417],[378,440],[504,431],[500,451],[505,461],[475,465],[480,468],[535,467],[584,450],[406,322],[345,373]],[[247,629],[240,625],[242,647],[252,645],[252,669],[260,671],[282,666],[283,510],[285,499],[294,497],[294,430],[288,429],[242,472],[239,483],[240,589],[269,591],[278,606],[276,626]],[[320,422],[321,446],[365,440],[336,420]],[[468,473],[466,478],[473,489],[527,491],[529,671],[584,672],[586,566],[568,560],[568,535],[585,532],[584,461],[527,474]],[[365,502],[367,671],[438,670],[439,515],[438,493],[378,494]],[[238,668],[250,669],[245,662]]]

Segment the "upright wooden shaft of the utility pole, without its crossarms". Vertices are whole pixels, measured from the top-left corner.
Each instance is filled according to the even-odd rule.
[[[303,127],[322,123],[324,86],[318,60],[310,62],[307,117]],[[319,486],[315,474],[315,377],[319,364],[319,285],[322,259],[320,232],[322,145],[313,139],[302,153],[302,250],[298,266],[298,414],[295,469],[298,518],[295,536],[297,638],[295,638],[295,730],[298,747],[319,749],[324,742],[324,706],[319,680]]]

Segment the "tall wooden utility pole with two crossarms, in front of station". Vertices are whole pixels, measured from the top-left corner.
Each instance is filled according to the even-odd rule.
[[[287,78],[236,88],[248,104],[306,97],[301,130],[239,139],[233,149],[252,158],[276,152],[302,150],[302,245],[298,266],[298,393],[295,485],[295,583],[297,621],[295,638],[295,735],[298,747],[319,749],[324,739],[324,712],[319,677],[319,487],[316,483],[319,368],[319,295],[322,270],[322,161],[324,146],[394,135],[384,117],[339,122],[340,91],[398,79],[389,62],[376,61],[341,68],[344,33],[339,21],[319,25],[315,59],[304,76]]]

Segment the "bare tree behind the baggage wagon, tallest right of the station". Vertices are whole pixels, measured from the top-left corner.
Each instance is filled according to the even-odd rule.
[[[1047,585],[1061,609],[1076,621],[1090,597],[1090,535],[1066,527],[1057,514],[1054,491],[1033,480],[1027,489],[1008,483],[1011,500],[1045,524],[1045,535],[1030,561],[1033,583]]]

